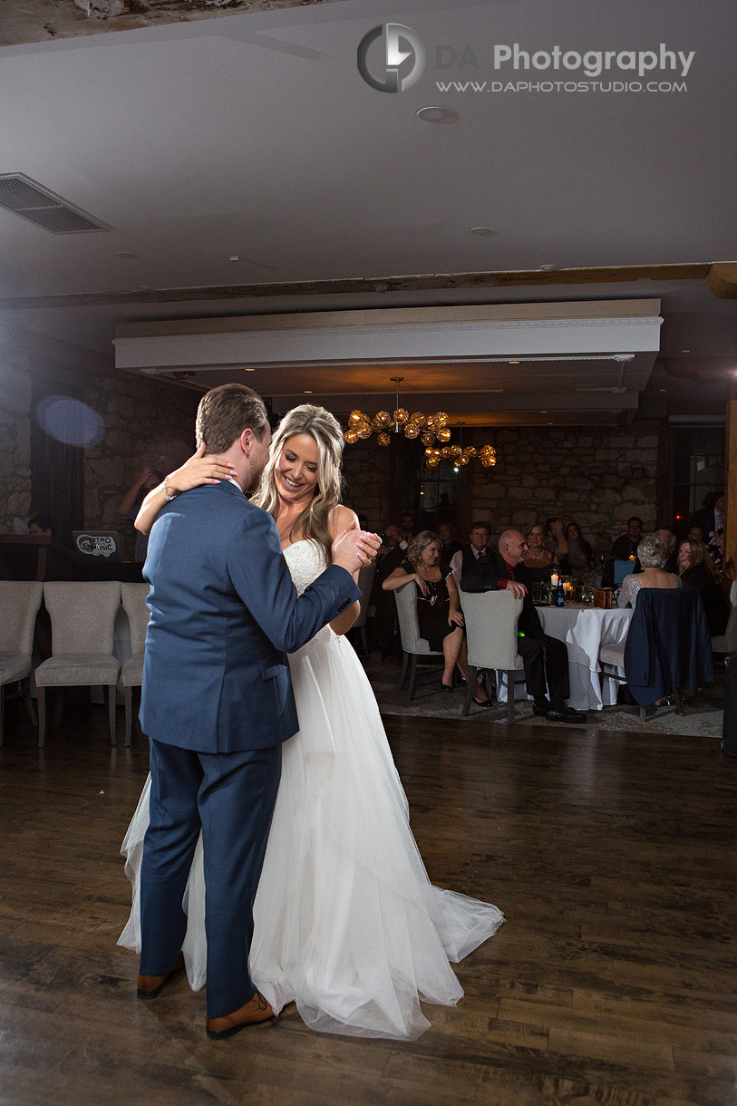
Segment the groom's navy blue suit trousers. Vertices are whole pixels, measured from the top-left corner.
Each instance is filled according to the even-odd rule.
[[[256,993],[248,971],[253,900],[281,776],[281,745],[199,753],[150,740],[149,824],[141,866],[141,973],[176,962],[183,898],[200,828],[205,857],[207,1016]]]

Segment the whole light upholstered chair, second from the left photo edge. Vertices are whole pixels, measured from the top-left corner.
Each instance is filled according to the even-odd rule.
[[[100,685],[107,688],[110,740],[114,745],[121,665],[113,656],[113,627],[121,606],[121,585],[117,581],[46,582],[43,602],[51,618],[52,654],[33,674],[39,692],[39,749],[43,749],[46,732],[46,688],[59,688],[63,695],[66,687]]]

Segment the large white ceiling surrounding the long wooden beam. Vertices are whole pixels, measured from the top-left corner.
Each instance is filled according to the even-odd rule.
[[[366,85],[355,63],[361,38],[386,20],[428,50],[424,76],[396,95]],[[0,173],[23,173],[114,229],[54,236],[0,209],[0,299],[730,260],[736,30],[733,0],[343,0],[2,49]],[[436,80],[498,80],[492,46],[513,42],[665,43],[695,56],[682,93],[437,91]],[[437,44],[471,44],[481,72],[437,71]],[[459,122],[416,118],[437,103]],[[478,225],[497,233],[469,234]],[[40,300],[0,319],[112,354],[115,325],[138,320],[617,296],[660,296],[664,353],[720,358],[724,390],[737,302],[702,281]]]

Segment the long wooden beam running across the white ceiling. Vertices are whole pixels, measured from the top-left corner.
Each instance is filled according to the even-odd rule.
[[[639,280],[705,280],[708,263],[667,265],[604,265],[598,269],[540,269],[478,273],[424,273],[404,276],[353,276],[346,280],[287,281],[272,284],[216,284],[205,288],[150,289],[135,292],[81,292],[72,295],[29,295],[0,300],[2,311],[38,307],[97,307],[133,303],[184,303],[208,300],[248,300],[277,295],[355,295],[376,292],[427,292],[448,289],[550,288],[561,284],[631,284]]]

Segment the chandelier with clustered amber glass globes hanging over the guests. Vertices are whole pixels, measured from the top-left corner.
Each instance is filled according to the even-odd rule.
[[[485,469],[494,468],[497,463],[497,452],[494,446],[451,446],[450,427],[448,426],[448,415],[446,411],[436,411],[435,415],[425,415],[423,411],[413,411],[411,415],[406,407],[399,406],[398,387],[403,376],[392,376],[392,383],[396,384],[396,408],[390,411],[376,411],[373,418],[362,410],[352,410],[349,415],[349,426],[344,438],[349,445],[355,441],[366,441],[372,434],[376,435],[377,446],[390,446],[392,444],[392,432],[404,434],[405,438],[421,438],[425,446],[425,465],[430,469],[436,469],[440,461],[453,461],[456,469],[465,467],[470,461],[478,459]],[[438,445],[439,444],[439,445]]]

